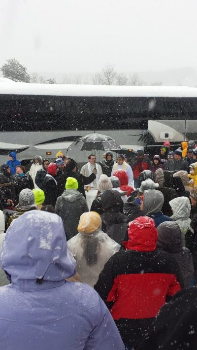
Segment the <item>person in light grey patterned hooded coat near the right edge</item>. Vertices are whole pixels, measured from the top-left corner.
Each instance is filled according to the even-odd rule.
[[[182,233],[182,245],[185,246],[185,234],[190,226],[190,211],[191,204],[187,197],[178,197],[169,201],[169,205],[172,208],[173,214],[171,219],[176,221],[179,225]]]

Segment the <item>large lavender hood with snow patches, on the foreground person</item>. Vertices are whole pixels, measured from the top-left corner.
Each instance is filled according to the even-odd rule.
[[[62,219],[32,210],[13,220],[2,244],[0,266],[21,290],[48,289],[65,283],[75,274],[75,260],[67,249]],[[43,283],[36,284],[36,279],[42,278]]]

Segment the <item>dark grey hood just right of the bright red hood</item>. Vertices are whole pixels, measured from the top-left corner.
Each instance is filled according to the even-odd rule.
[[[177,253],[182,250],[181,229],[174,221],[164,221],[157,227],[157,247],[169,253]]]

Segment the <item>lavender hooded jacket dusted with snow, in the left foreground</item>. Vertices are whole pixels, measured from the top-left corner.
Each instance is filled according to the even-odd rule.
[[[0,265],[12,280],[0,287],[1,349],[125,349],[97,292],[65,281],[75,262],[58,215],[32,210],[14,220]]]

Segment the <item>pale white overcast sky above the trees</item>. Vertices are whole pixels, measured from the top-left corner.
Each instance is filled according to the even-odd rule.
[[[197,68],[196,0],[0,1],[0,67],[30,72]]]

